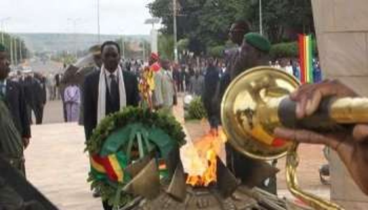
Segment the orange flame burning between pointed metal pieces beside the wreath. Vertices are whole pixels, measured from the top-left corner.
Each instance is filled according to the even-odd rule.
[[[223,154],[226,136],[222,129],[211,130],[194,143],[198,156],[192,158],[191,171],[204,171],[202,174],[188,174],[187,184],[191,186],[209,186],[217,182],[217,156],[226,159]],[[198,162],[199,157],[199,162]]]

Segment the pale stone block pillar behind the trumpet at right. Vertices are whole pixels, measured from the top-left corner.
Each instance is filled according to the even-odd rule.
[[[312,0],[324,78],[336,78],[368,96],[368,0]],[[364,195],[336,153],[331,160],[331,200],[346,209],[368,209]]]

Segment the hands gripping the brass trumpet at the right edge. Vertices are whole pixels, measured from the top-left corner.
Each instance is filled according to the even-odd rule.
[[[303,85],[291,93],[290,98],[297,103],[297,118],[302,119],[314,114],[321,100],[329,96],[358,97],[353,90],[334,80]],[[324,144],[336,150],[351,177],[368,195],[368,125],[357,124],[352,133],[316,133],[304,129],[276,128],[274,134],[300,143]]]

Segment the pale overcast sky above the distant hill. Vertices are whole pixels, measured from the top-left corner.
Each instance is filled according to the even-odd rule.
[[[97,33],[97,0],[0,0],[7,32]],[[152,0],[100,0],[102,34],[149,34]],[[75,20],[75,21],[73,21]]]

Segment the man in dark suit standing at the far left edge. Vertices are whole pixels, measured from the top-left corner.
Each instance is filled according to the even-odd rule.
[[[7,79],[10,72],[9,65],[8,54],[5,51],[5,47],[0,44],[0,100],[5,102],[15,128],[18,131],[17,135],[21,136],[22,144],[26,148],[31,138],[31,128],[26,110],[25,97],[21,85],[18,82]],[[17,162],[17,168],[24,172],[23,150],[18,148],[17,151],[19,151],[19,154],[12,155],[9,159],[13,163]]]

